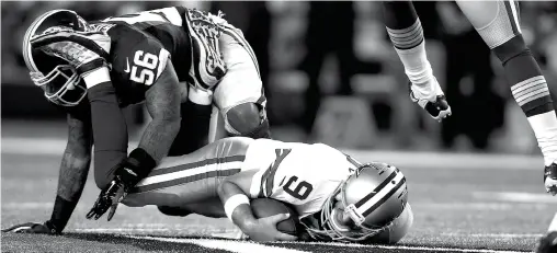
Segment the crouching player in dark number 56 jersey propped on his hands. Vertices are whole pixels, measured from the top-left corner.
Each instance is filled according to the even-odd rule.
[[[93,139],[94,177],[103,191],[89,218],[107,211],[116,193],[167,153],[205,145],[187,137],[206,137],[198,130],[207,131],[213,100],[229,134],[269,137],[252,50],[239,30],[215,15],[177,7],[87,22],[54,10],[27,30],[23,56],[32,80],[67,112],[69,125],[53,216],[37,231],[64,230],[87,180]],[[127,157],[121,108],[139,102],[152,120]]]

